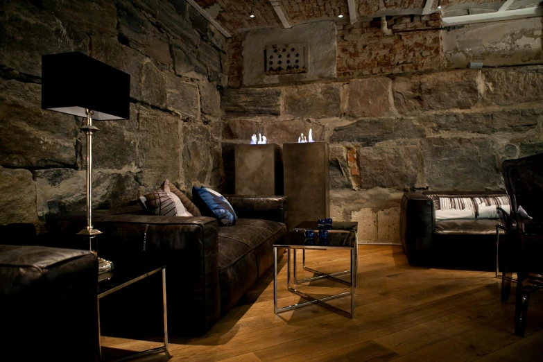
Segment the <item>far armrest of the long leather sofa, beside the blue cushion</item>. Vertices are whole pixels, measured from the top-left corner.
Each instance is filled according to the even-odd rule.
[[[287,205],[284,196],[225,196],[238,218],[261,218],[286,224]]]

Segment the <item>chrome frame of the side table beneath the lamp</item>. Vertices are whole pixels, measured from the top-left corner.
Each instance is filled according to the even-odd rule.
[[[168,314],[167,314],[167,308],[166,308],[166,266],[161,266],[160,268],[156,268],[155,270],[151,270],[148,273],[145,273],[143,275],[140,275],[139,277],[135,277],[134,279],[130,279],[128,282],[123,283],[119,286],[116,286],[114,288],[111,288],[108,291],[105,291],[104,293],[98,294],[97,299],[97,307],[98,307],[98,347],[100,351],[100,360],[102,361],[102,343],[100,342],[100,300],[104,298],[106,295],[110,295],[111,293],[114,293],[116,291],[119,291],[120,289],[129,286],[130,284],[134,284],[135,282],[144,279],[148,277],[149,275],[153,275],[155,273],[159,273],[162,270],[162,308],[163,308],[163,315],[164,315],[164,345],[161,347],[152,348],[150,350],[141,351],[141,352],[135,352],[133,354],[128,354],[127,356],[122,356],[119,359],[111,359],[107,360],[107,362],[119,362],[119,361],[126,361],[128,359],[135,359],[137,357],[141,356],[147,356],[149,354],[155,354],[160,352],[166,352],[166,356],[169,356],[168,352]]]

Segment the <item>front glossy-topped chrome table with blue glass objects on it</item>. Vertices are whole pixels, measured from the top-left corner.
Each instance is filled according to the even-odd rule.
[[[287,250],[286,280],[287,280],[288,291],[296,295],[300,295],[300,297],[307,299],[309,302],[293,304],[288,307],[280,307],[280,308],[277,307],[277,248],[286,248]],[[351,274],[350,282],[345,282],[345,280],[336,278],[336,275],[338,275],[338,273],[325,274],[325,273],[319,272],[318,270],[307,268],[306,270],[309,270],[312,273],[318,274],[318,277],[302,279],[294,283],[294,284],[301,284],[303,282],[308,282],[310,280],[321,279],[321,278],[326,277],[326,278],[334,280],[335,282],[341,282],[343,284],[346,284],[347,286],[350,286],[350,291],[346,291],[346,292],[334,294],[334,295],[329,295],[328,297],[325,297],[325,298],[316,299],[316,298],[311,297],[311,295],[307,295],[306,293],[303,293],[302,291],[299,291],[298,289],[296,289],[294,287],[294,284],[291,284],[291,250],[293,250],[294,255],[296,255],[296,251],[298,249],[302,249],[304,252],[307,249],[350,250],[351,268],[350,270],[347,270],[346,272],[346,273]],[[279,314],[284,311],[290,311],[292,309],[304,307],[309,304],[319,304],[320,306],[330,309],[331,311],[335,311],[336,313],[339,313],[343,316],[346,316],[348,318],[354,318],[354,288],[356,286],[356,268],[357,268],[356,258],[358,255],[357,250],[358,250],[358,245],[356,244],[356,238],[354,238],[351,233],[345,233],[345,232],[329,233],[326,239],[319,239],[318,235],[314,236],[311,239],[306,239],[306,237],[304,236],[304,233],[302,232],[289,232],[288,234],[286,234],[286,236],[284,237],[284,240],[279,241],[277,244],[273,245],[273,309],[274,309],[274,313]],[[296,268],[295,264],[294,264],[294,268]],[[341,274],[345,274],[345,272],[341,272]],[[348,295],[350,295],[351,297],[350,312],[334,307],[326,302],[327,300],[346,297]]]

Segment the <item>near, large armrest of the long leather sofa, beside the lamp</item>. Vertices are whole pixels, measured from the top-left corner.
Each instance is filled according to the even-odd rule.
[[[67,241],[78,237],[85,219],[62,218],[50,224],[49,231]],[[100,215],[94,227],[103,232],[96,238],[98,255],[113,261],[115,269],[130,263],[166,264],[171,331],[203,334],[220,318],[216,218]]]

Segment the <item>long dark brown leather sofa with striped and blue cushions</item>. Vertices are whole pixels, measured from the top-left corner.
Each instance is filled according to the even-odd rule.
[[[227,199],[238,218],[233,226],[219,227],[210,217],[150,216],[139,205],[94,212],[94,226],[104,233],[98,254],[115,268],[166,264],[173,334],[196,336],[212,327],[273,265],[273,244],[286,234],[286,198]],[[84,225],[83,216],[61,218],[49,221],[48,232],[60,242],[68,236],[74,245],[74,234]]]

